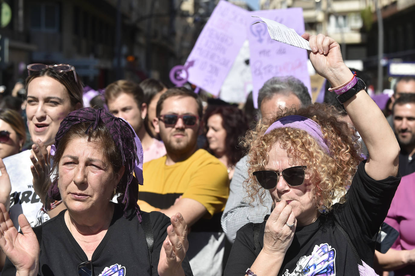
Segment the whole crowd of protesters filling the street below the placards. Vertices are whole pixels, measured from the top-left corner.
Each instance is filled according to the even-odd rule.
[[[303,38],[325,103],[272,77],[256,114],[28,65],[0,102],[2,275],[415,275],[415,77],[382,112],[336,41]]]

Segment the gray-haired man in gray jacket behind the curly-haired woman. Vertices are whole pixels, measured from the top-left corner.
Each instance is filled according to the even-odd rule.
[[[263,119],[271,119],[280,108],[299,108],[309,104],[311,97],[307,87],[295,77],[273,77],[264,83],[258,94],[258,107]],[[232,243],[239,228],[249,222],[261,223],[264,221],[264,216],[271,211],[266,207],[272,204],[269,193],[265,194],[265,206],[259,202],[259,199],[255,199],[251,205],[244,201],[248,194],[243,183],[248,178],[248,157],[245,156],[235,166],[229,198],[221,219],[222,229]]]

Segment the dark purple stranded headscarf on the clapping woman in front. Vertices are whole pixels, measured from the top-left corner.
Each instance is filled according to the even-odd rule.
[[[102,122],[110,132],[115,146],[121,153],[122,165],[125,166],[124,175],[127,176],[126,183],[118,184],[117,191],[124,194],[121,203],[124,207],[124,216],[127,216],[127,209],[134,208],[139,221],[141,222],[140,209],[137,204],[138,200],[138,185],[143,184],[143,149],[137,134],[132,127],[121,118],[117,118],[104,109],[93,109],[90,107],[81,108],[66,116],[59,126],[58,133],[56,133],[55,144],[51,151],[56,151],[59,148],[59,142],[68,130],[78,123],[90,122],[90,126],[85,131],[95,131],[99,122]],[[53,153],[52,153],[53,154]],[[137,178],[137,182],[133,179],[133,172]],[[48,197],[51,199],[60,199],[58,183],[55,181],[49,188]]]

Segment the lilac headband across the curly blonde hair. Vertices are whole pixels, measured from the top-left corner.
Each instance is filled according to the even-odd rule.
[[[278,119],[277,121],[273,122],[272,125],[269,126],[269,128],[265,131],[265,134],[270,133],[273,129],[285,127],[297,128],[306,131],[308,134],[312,136],[312,138],[314,138],[317,141],[320,147],[322,147],[323,150],[325,150],[326,153],[330,155],[330,149],[323,138],[323,133],[321,132],[320,125],[312,119],[309,119],[304,116],[290,115],[282,117],[281,119]]]

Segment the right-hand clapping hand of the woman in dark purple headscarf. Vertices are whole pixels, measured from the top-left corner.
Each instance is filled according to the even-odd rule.
[[[189,247],[187,224],[181,213],[172,215],[167,227],[167,237],[160,251],[158,272],[160,276],[184,275],[181,263]]]

